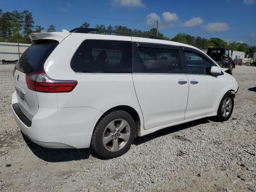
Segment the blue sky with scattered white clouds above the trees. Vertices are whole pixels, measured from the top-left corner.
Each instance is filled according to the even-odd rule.
[[[3,12],[29,10],[34,25],[57,31],[84,22],[122,25],[159,31],[169,38],[178,33],[256,46],[256,0],[1,0]]]

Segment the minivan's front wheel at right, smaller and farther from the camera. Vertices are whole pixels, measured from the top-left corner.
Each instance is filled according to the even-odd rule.
[[[227,92],[220,101],[217,111],[216,120],[223,122],[230,118],[234,108],[234,97],[230,92]]]

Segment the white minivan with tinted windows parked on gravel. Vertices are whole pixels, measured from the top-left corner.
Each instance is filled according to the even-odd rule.
[[[230,118],[238,83],[198,48],[97,30],[30,34],[13,72],[12,110],[36,144],[114,158],[136,136]]]

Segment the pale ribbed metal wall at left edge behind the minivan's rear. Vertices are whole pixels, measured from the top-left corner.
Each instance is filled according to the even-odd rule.
[[[0,42],[0,63],[5,61],[13,61],[19,59],[19,56],[30,46],[31,44],[24,43],[7,43]]]

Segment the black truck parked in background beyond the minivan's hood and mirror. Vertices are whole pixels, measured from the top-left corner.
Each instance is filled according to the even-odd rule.
[[[229,53],[229,49],[224,47],[209,47],[207,50],[207,55],[210,56],[218,65],[222,68],[229,68],[230,71],[235,68],[236,64],[234,60],[231,58],[233,54],[233,50],[231,50],[231,54]]]

